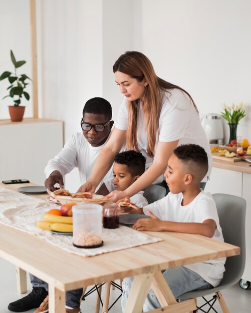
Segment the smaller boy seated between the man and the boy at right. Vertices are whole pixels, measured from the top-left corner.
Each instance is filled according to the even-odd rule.
[[[113,164],[113,180],[105,181],[109,189],[123,191],[128,188],[145,171],[146,158],[141,152],[134,150],[117,153]],[[143,207],[148,204],[143,196],[144,191],[139,191],[131,197],[131,201]]]

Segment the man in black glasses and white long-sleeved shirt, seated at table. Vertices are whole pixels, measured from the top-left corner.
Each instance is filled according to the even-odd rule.
[[[56,183],[63,188],[63,176],[75,167],[78,167],[81,184],[86,182],[100,150],[110,135],[114,123],[111,118],[112,107],[107,100],[95,97],[86,102],[80,123],[82,132],[73,134],[64,148],[48,162],[45,168],[47,177],[45,186],[49,190],[59,189],[55,187]],[[111,177],[113,177],[112,167],[103,180]],[[10,303],[8,309],[14,312],[23,312],[38,307],[35,313],[49,312],[48,284],[31,274],[30,278],[33,286],[32,292]],[[66,313],[81,313],[82,293],[82,288],[66,292]]]

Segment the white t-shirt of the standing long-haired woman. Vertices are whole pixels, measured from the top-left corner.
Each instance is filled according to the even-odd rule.
[[[179,89],[170,89],[165,92],[164,102],[159,117],[159,132],[156,134],[156,145],[158,141],[170,142],[179,140],[178,145],[195,143],[202,146],[208,157],[208,172],[202,181],[207,181],[212,167],[212,155],[205,132],[201,126],[199,114],[196,112],[189,96]],[[121,130],[128,128],[128,101],[125,97],[120,105],[115,127]],[[153,158],[146,153],[147,136],[145,130],[144,111],[142,103],[138,104],[138,131],[137,142],[140,152],[146,157],[146,168],[148,168]],[[162,179],[163,180],[163,179]]]

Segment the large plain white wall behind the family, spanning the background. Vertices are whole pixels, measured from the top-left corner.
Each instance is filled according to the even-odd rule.
[[[11,66],[10,48],[18,58],[30,58],[28,5],[0,0],[1,38],[7,39],[1,72]],[[248,116],[237,133],[251,141],[250,13],[250,0],[37,0],[40,117],[63,120],[65,141],[80,131],[84,103],[93,96],[107,98],[115,118],[122,97],[112,65],[135,49],[151,59],[160,77],[185,88],[201,113],[243,101]],[[27,18],[20,22],[23,14]],[[22,40],[21,26],[27,28]],[[0,82],[1,97],[3,89]],[[5,101],[0,100],[0,118],[9,117]],[[77,171],[66,181],[74,191]]]

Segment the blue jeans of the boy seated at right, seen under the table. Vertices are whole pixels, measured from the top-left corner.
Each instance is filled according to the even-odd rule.
[[[162,274],[165,277],[165,280],[167,281],[175,298],[178,298],[179,295],[191,290],[209,289],[213,287],[199,274],[184,266],[166,269],[162,272]],[[132,287],[133,278],[134,277],[124,278],[122,282],[123,294],[121,305],[123,311],[129,296],[129,291]],[[153,290],[150,288],[143,305],[143,312],[147,312],[158,307],[161,307],[161,305]]]

